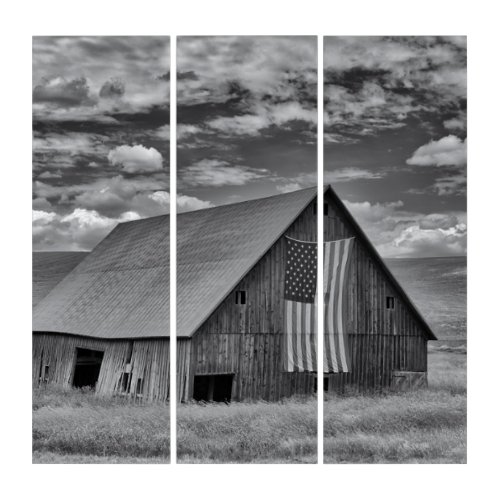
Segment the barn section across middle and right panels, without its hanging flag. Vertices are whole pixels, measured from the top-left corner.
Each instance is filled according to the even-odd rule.
[[[277,400],[313,393],[313,372],[284,370],[286,238],[315,242],[316,189],[181,214],[177,366],[181,400]],[[346,277],[348,373],[329,391],[425,384],[434,334],[331,187],[325,241],[354,237]]]

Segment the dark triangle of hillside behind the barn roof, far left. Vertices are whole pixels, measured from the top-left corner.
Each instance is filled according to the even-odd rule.
[[[33,307],[40,302],[88,252],[33,252]]]

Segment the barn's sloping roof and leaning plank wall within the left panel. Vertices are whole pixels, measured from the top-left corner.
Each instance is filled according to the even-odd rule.
[[[169,245],[168,217],[119,224],[38,302],[35,384],[168,399]]]

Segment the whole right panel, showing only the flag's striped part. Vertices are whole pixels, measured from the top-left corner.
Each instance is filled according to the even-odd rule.
[[[325,463],[465,463],[466,37],[324,38]]]

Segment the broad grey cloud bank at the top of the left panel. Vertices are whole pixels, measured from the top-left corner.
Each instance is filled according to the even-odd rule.
[[[154,36],[36,37],[34,117],[112,123],[108,113],[165,106],[169,45]]]

